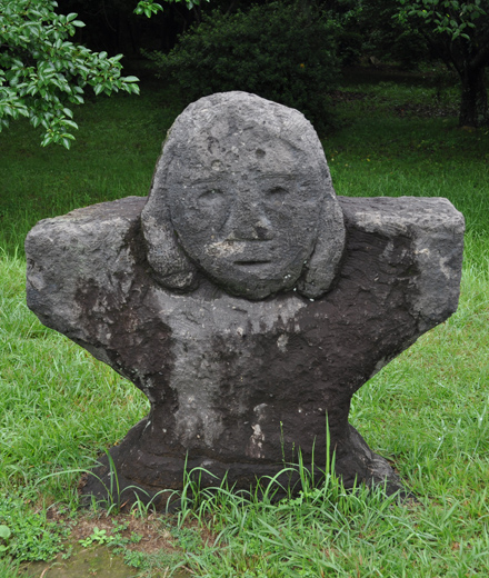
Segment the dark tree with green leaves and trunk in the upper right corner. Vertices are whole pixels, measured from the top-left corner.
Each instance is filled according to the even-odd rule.
[[[489,0],[398,0],[398,19],[415,23],[428,46],[461,82],[460,126],[489,122],[486,68],[489,66]]]

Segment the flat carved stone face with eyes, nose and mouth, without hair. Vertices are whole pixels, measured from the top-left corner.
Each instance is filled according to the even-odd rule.
[[[166,188],[190,259],[231,292],[259,299],[301,275],[318,235],[323,179],[306,171],[303,151],[287,143],[249,144],[231,139],[223,160],[190,147],[198,173],[170,166]]]

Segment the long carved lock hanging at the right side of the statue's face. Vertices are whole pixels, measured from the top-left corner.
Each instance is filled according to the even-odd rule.
[[[327,195],[322,205],[315,250],[305,266],[297,290],[316,299],[330,288],[345,249],[343,211],[335,196]]]

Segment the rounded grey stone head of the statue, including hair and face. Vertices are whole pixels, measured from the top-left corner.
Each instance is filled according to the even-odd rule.
[[[142,227],[158,281],[231,295],[325,293],[345,243],[341,209],[312,126],[244,92],[190,104],[158,161]]]

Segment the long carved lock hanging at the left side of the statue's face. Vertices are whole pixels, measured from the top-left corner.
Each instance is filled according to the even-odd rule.
[[[191,291],[198,286],[197,269],[177,241],[167,195],[157,181],[158,175],[153,178],[149,200],[141,212],[148,261],[160,285],[177,291]]]

